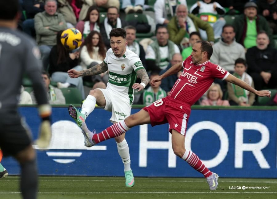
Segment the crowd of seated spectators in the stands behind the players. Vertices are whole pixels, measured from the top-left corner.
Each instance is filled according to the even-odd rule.
[[[110,48],[109,32],[116,27],[126,30],[128,49],[139,55],[150,77],[164,73],[176,61],[185,60],[196,41],[207,40],[213,45],[212,63],[258,90],[277,89],[277,0],[20,2],[22,20],[18,29],[37,41],[44,75],[51,79],[50,83],[46,82],[48,98],[54,100],[54,104],[65,103],[64,99],[57,99],[62,95],[59,89],[77,88],[85,99],[84,85],[105,87],[108,73],[70,79],[67,71],[101,63]],[[81,47],[74,51],[66,50],[59,42],[61,32],[70,27],[81,31],[84,37]],[[147,85],[144,91],[135,92],[134,103],[150,104],[165,97],[177,79],[178,76],[167,77],[156,88]],[[32,103],[30,101],[28,103]],[[219,80],[215,80],[196,104],[261,105],[257,96]],[[266,105],[277,105],[275,93]]]

